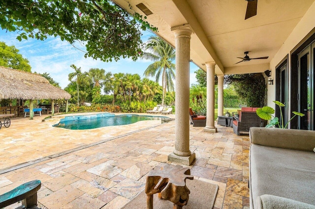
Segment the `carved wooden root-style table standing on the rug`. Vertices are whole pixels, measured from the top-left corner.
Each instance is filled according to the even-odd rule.
[[[186,179],[193,180],[190,169],[181,165],[164,165],[159,170],[150,171],[145,192],[147,194],[147,209],[153,209],[153,194],[158,193],[158,198],[174,203],[173,209],[182,209],[189,199],[189,189]]]

